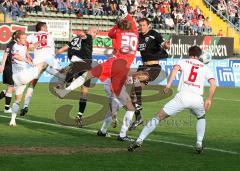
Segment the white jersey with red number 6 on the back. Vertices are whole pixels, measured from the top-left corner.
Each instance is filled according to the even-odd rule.
[[[183,59],[177,65],[182,71],[178,85],[179,92],[202,95],[205,80],[214,79],[211,69],[197,59]]]

